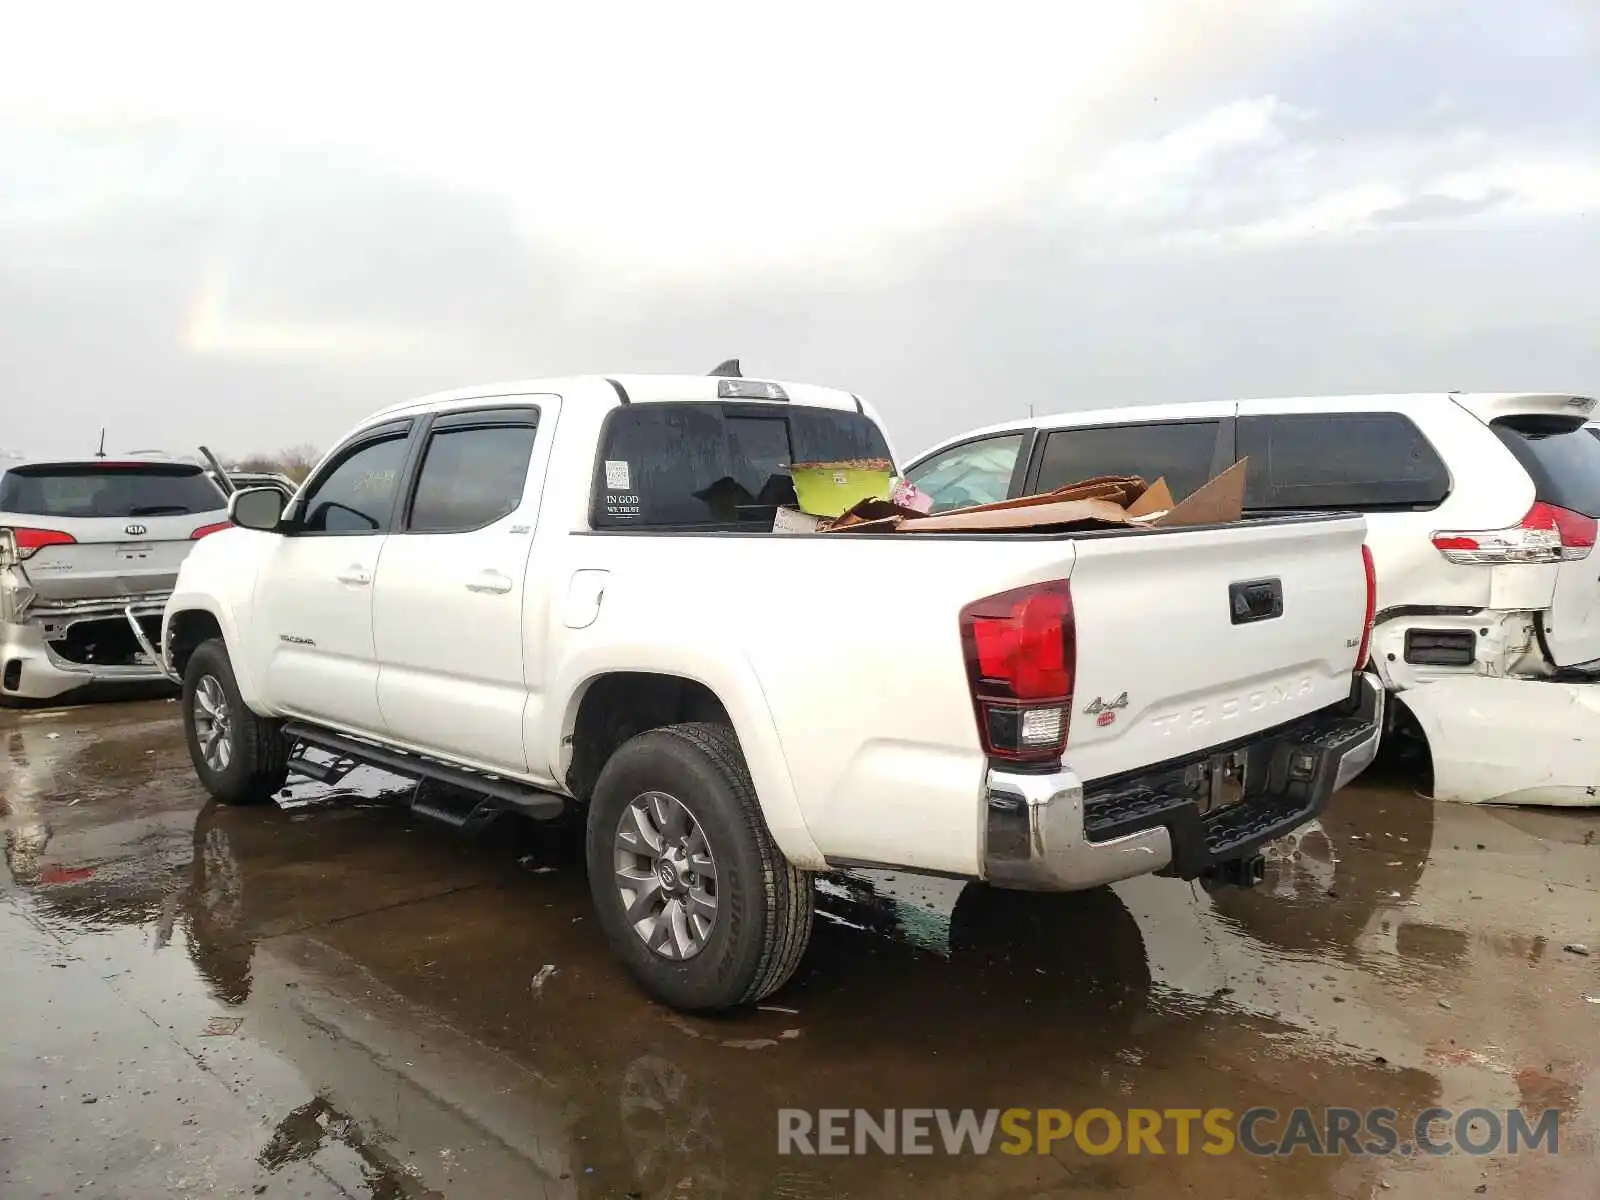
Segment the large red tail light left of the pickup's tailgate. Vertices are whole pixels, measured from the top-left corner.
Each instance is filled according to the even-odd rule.
[[[966,605],[962,648],[984,752],[1018,763],[1059,758],[1077,667],[1067,582],[1034,584]]]

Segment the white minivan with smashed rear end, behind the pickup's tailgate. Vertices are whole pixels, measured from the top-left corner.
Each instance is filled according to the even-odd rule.
[[[1378,574],[1371,664],[1446,800],[1600,805],[1600,434],[1550,394],[1115,408],[950,438],[907,475],[936,509],[1099,474],[1176,494],[1248,458],[1245,510],[1354,510]]]

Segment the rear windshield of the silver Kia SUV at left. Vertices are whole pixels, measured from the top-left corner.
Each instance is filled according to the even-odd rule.
[[[182,517],[226,506],[206,474],[186,464],[27,466],[0,475],[0,512],[21,517]]]

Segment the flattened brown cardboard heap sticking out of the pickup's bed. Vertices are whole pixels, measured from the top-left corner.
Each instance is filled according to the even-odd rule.
[[[1165,478],[1155,480],[1133,499],[1118,504],[1112,499],[1061,499],[1085,485],[1101,485],[1101,480],[1085,480],[1042,496],[1026,496],[1018,501],[1000,501],[971,509],[954,509],[933,517],[883,517],[858,525],[835,526],[838,533],[1000,533],[1018,530],[1070,530],[1107,528],[1117,525],[1142,525],[1146,528],[1173,530],[1190,525],[1226,525],[1237,522],[1245,509],[1245,464],[1240,459],[1221,475],[1205,483],[1184,501],[1174,504]],[[1123,480],[1126,482],[1126,480]],[[1099,490],[1098,486],[1090,488]]]

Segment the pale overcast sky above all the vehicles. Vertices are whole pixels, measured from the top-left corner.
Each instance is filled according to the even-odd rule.
[[[402,8],[0,0],[0,448],[733,355],[902,454],[1600,392],[1594,0]]]

